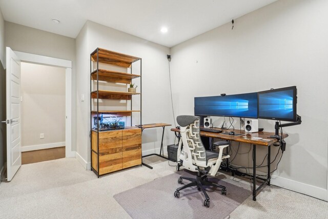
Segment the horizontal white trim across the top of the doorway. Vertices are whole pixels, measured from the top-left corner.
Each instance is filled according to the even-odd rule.
[[[18,51],[14,51],[14,52],[24,62],[35,63],[35,64],[42,63],[43,65],[49,65],[49,66],[72,68],[72,61],[69,60],[53,58],[43,55],[35,55],[26,52],[18,52]]]

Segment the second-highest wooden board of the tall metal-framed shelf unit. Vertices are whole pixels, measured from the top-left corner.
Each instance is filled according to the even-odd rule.
[[[91,77],[94,80],[97,79],[97,70],[91,72]],[[118,71],[110,71],[105,69],[98,69],[99,81],[130,84],[131,80],[137,77],[140,77],[140,75],[118,72]]]

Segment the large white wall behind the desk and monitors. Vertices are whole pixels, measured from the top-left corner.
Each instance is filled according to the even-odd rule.
[[[303,122],[283,129],[289,137],[272,182],[322,199],[327,199],[327,8],[325,0],[278,1],[235,19],[233,30],[229,23],[171,48],[176,115],[193,114],[194,96],[296,85]],[[274,121],[260,120],[259,127],[274,131]],[[258,150],[257,164],[265,153]],[[251,159],[250,154],[250,164]],[[236,162],[250,166],[247,155]]]

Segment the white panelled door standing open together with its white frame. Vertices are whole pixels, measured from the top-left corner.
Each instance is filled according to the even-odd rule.
[[[45,66],[65,68],[65,155],[74,157],[72,150],[72,62],[13,51],[6,47],[6,127],[7,127],[7,181],[10,182],[22,165],[22,128],[21,128],[21,101],[20,98],[20,64],[32,63]]]

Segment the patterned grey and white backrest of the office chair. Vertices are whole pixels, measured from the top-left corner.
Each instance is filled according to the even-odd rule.
[[[199,118],[187,127],[187,142],[195,161],[206,161],[206,151],[200,138]]]

